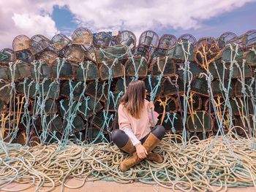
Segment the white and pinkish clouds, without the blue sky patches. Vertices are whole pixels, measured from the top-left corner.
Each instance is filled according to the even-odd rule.
[[[10,47],[18,34],[43,34],[53,37],[58,32],[50,15],[53,6],[68,7],[78,26],[91,31],[131,30],[138,37],[142,31],[195,30],[205,20],[255,0],[9,0],[0,7],[0,47]]]

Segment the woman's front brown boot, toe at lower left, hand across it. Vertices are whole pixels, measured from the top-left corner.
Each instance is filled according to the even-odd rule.
[[[154,149],[154,147],[157,147],[159,142],[160,140],[156,136],[154,136],[154,134],[150,133],[146,141],[143,143],[143,146],[145,147],[147,153],[149,154],[151,150]],[[133,153],[132,157],[129,157],[125,159],[123,162],[121,162],[120,169],[122,172],[125,172],[128,169],[130,169],[132,166],[140,164],[140,161],[142,160],[143,159],[138,157],[137,153]]]

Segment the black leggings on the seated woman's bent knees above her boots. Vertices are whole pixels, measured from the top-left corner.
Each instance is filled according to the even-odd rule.
[[[161,126],[161,125],[155,126],[154,128],[152,128],[151,133],[154,134],[154,136],[156,136],[159,140],[162,140],[162,137],[164,137],[165,135],[165,128],[164,126]],[[140,139],[140,142],[142,144],[143,142],[146,141],[146,139],[148,138],[148,135],[149,134],[147,134],[145,137]],[[116,129],[111,134],[111,139],[117,145],[118,148],[121,148],[127,144],[129,137],[123,130]]]

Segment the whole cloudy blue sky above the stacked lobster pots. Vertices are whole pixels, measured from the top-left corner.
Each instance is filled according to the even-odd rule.
[[[25,34],[51,39],[76,28],[129,30],[139,38],[146,30],[159,34],[219,37],[240,36],[256,29],[256,0],[0,0],[0,50]]]

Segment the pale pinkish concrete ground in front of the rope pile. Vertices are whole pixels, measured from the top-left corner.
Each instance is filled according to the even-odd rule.
[[[81,181],[78,180],[69,180],[67,184],[69,186],[77,186],[80,185]],[[7,188],[8,189],[22,189],[25,188],[26,184],[18,184],[18,183],[12,183],[10,184]],[[26,192],[32,192],[34,191],[35,188],[29,188],[26,189]],[[46,191],[47,188],[41,189],[42,191]],[[0,191],[3,191],[0,189]],[[61,191],[60,187],[56,187],[53,192],[59,192]],[[64,188],[64,192],[86,192],[86,191],[97,191],[97,192],[170,192],[172,190],[167,189],[167,188],[162,188],[159,185],[146,185],[143,183],[131,183],[131,184],[119,184],[115,182],[107,182],[107,181],[95,181],[95,182],[87,182],[83,185],[83,187],[78,188],[78,189],[70,189],[70,188]],[[224,191],[224,189],[222,190]],[[228,191],[231,192],[255,192],[255,188],[229,188]],[[3,191],[4,192],[4,191]]]

